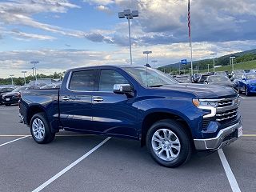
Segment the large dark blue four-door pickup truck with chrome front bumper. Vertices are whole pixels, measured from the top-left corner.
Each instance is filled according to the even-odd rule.
[[[242,135],[233,88],[180,84],[144,66],[67,70],[59,89],[26,90],[21,122],[35,142],[59,130],[131,138],[162,166],[177,167],[197,150],[214,151]]]

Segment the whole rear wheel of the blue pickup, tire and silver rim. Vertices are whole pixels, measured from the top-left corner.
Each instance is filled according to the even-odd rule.
[[[55,137],[55,134],[50,131],[45,113],[34,114],[30,122],[30,133],[34,141],[39,144],[52,142]]]

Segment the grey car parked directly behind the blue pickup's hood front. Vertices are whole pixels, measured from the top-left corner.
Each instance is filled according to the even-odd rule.
[[[230,86],[232,88],[234,88],[235,86],[234,82],[231,82],[230,78],[224,75],[209,76],[206,78],[206,81],[204,83],[218,86]]]

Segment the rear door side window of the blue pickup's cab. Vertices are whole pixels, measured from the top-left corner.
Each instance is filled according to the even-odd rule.
[[[81,70],[72,73],[70,90],[90,91],[94,90],[94,70]]]

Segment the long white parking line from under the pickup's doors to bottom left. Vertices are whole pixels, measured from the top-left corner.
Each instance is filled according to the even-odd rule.
[[[47,180],[46,182],[42,183],[41,186],[38,186],[38,188],[36,188],[35,190],[33,190],[32,192],[38,192],[42,189],[44,189],[46,186],[48,186],[51,182],[54,182],[57,178],[59,178],[60,176],[62,176],[62,174],[65,174],[66,171],[70,170],[73,166],[77,165],[79,162],[81,162],[83,159],[87,158],[90,154],[92,154],[95,150],[98,150],[99,147],[101,147],[105,142],[107,142],[108,140],[110,140],[109,138],[106,138],[104,141],[100,142],[97,146],[94,146],[93,149],[91,149],[90,151],[88,151],[86,154],[82,155],[81,158],[78,158],[76,161],[72,162],[69,166],[67,166],[66,168],[64,168],[63,170],[61,170],[60,172],[58,172],[58,174],[55,174],[54,177],[50,178],[49,180]]]

